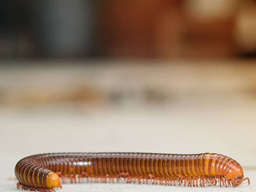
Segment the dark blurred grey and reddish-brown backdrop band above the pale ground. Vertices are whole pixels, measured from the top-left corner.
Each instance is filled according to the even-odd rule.
[[[1,0],[1,58],[256,56],[255,0]]]

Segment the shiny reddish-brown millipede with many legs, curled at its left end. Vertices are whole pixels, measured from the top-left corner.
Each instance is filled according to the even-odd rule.
[[[19,160],[15,166],[17,189],[53,192],[61,182],[152,183],[160,185],[205,187],[240,185],[242,167],[236,160],[216,153],[49,153]]]

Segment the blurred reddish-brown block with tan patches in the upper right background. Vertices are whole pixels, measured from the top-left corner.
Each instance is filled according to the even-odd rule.
[[[119,57],[233,57],[239,53],[234,32],[240,3],[239,0],[108,1],[102,6],[104,53]]]

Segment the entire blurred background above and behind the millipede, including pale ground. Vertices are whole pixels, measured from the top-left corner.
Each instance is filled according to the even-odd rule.
[[[217,152],[253,167],[255,125],[255,0],[0,1],[6,175],[61,151]]]

